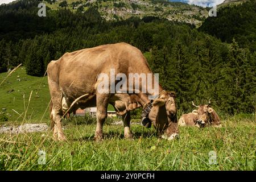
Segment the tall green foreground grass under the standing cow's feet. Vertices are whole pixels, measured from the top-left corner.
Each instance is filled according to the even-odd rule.
[[[255,122],[224,121],[224,127],[181,127],[180,138],[159,139],[153,128],[132,125],[134,140],[122,126],[104,125],[104,141],[94,142],[96,125],[64,126],[68,142],[52,132],[0,135],[1,170],[256,170]],[[39,150],[46,164],[38,164]],[[209,164],[209,152],[217,164]]]

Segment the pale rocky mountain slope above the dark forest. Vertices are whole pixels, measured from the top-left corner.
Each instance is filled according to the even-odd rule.
[[[86,11],[89,7],[95,7],[106,20],[127,19],[131,16],[158,16],[177,22],[185,22],[200,25],[208,16],[207,9],[188,5],[181,2],[165,0],[66,0],[44,1],[51,9],[68,8],[72,11]]]

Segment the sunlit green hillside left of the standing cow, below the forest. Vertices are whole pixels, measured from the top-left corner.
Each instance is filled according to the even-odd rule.
[[[2,81],[6,76],[7,73],[1,73],[0,80]],[[47,77],[29,76],[26,74],[25,68],[21,67],[16,69],[0,88],[0,109],[6,109],[5,113],[10,121],[16,119],[22,121],[26,110],[27,120],[40,121],[44,119],[45,121],[49,118],[47,106],[51,97],[49,96]],[[46,114],[44,114],[45,111]]]

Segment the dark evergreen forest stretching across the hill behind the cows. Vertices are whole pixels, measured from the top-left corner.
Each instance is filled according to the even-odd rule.
[[[0,8],[0,19],[4,12]],[[59,59],[65,52],[126,42],[141,49],[152,71],[159,73],[160,84],[177,93],[179,109],[188,111],[192,100],[204,104],[212,98],[214,108],[224,113],[255,111],[256,52],[241,48],[236,39],[223,43],[188,24],[155,17],[106,22],[94,8],[85,13],[48,10],[47,17],[49,24],[55,26],[48,29],[47,21],[39,21],[40,26],[32,34],[24,31],[20,39],[12,35],[15,31],[22,34],[26,28],[23,24],[19,24],[21,31],[11,27],[3,33],[1,28],[1,72],[23,63],[28,75],[43,76],[49,61]]]

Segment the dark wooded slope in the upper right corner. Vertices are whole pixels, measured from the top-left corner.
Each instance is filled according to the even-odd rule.
[[[218,10],[217,17],[205,19],[199,30],[232,43],[236,39],[240,47],[256,51],[256,1],[241,5],[225,6]]]

